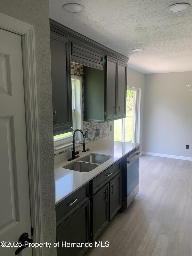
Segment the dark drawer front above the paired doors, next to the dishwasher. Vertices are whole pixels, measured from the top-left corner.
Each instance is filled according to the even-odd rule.
[[[91,180],[92,194],[95,194],[107,182],[115,177],[121,171],[121,161],[113,164],[111,167],[104,170],[101,174]]]

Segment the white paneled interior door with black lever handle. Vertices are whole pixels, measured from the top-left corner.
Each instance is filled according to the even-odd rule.
[[[0,29],[0,242],[18,242],[24,232],[31,238],[21,36]],[[16,249],[0,246],[0,255]]]

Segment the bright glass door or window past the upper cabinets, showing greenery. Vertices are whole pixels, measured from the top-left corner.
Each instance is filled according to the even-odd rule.
[[[114,140],[137,142],[138,89],[127,88],[126,118],[114,121]]]

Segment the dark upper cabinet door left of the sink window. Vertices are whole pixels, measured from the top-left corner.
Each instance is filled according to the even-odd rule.
[[[72,130],[70,40],[51,32],[53,133]]]

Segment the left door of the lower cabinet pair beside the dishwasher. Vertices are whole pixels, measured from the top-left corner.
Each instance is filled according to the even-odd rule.
[[[94,241],[109,223],[109,184],[92,197],[91,215],[91,240]]]

